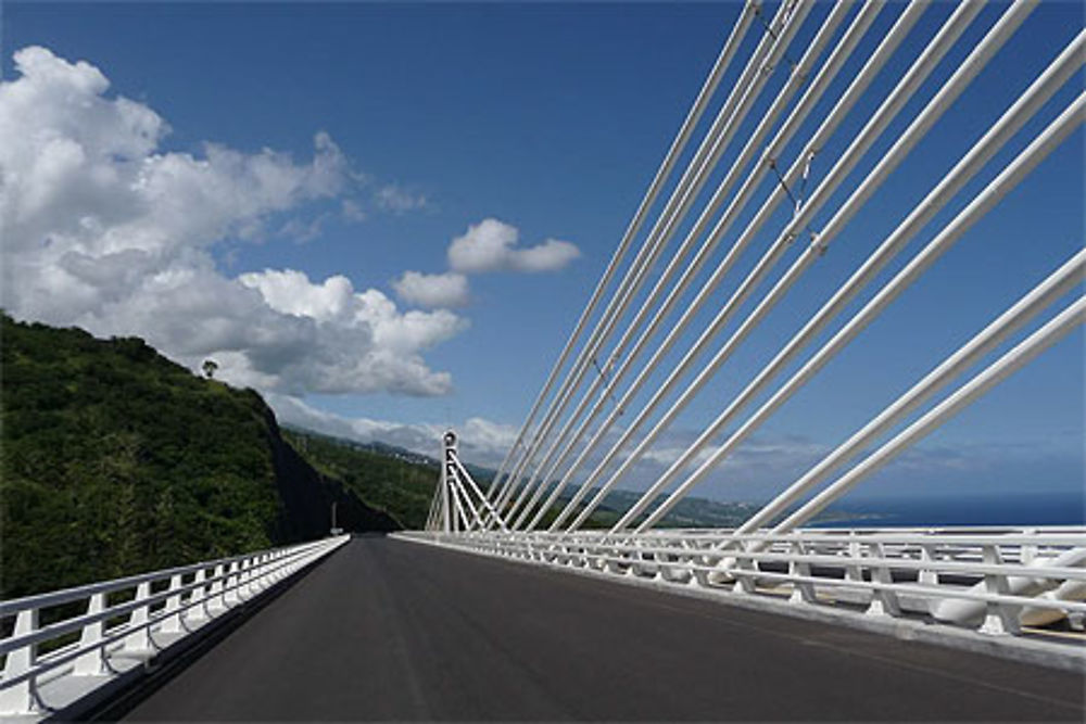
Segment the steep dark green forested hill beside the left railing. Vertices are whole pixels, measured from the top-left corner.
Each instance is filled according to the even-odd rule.
[[[399,528],[299,456],[254,391],[140,339],[0,325],[3,597],[326,535],[333,500],[348,530]]]

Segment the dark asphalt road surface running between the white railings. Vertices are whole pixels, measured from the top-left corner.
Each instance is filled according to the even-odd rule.
[[[1083,721],[1084,677],[383,538],[128,713],[173,721]]]

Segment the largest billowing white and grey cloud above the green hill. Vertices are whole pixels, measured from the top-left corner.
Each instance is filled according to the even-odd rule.
[[[87,62],[45,48],[15,53],[0,82],[0,228],[4,308],[18,318],[138,334],[220,377],[262,390],[450,391],[421,353],[465,329],[449,310],[401,312],[343,276],[290,269],[220,274],[210,250],[269,233],[319,234],[321,218],[283,220],[333,201],[358,174],[332,139],[296,162],[265,149],[160,148],[168,125],[144,104],[106,96]],[[344,214],[359,216],[352,202]],[[312,217],[312,215],[311,215]]]

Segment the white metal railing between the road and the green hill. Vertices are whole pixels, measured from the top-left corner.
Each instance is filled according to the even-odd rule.
[[[12,633],[0,639],[0,716],[42,719],[72,706],[349,539],[334,536],[0,601],[0,620],[14,618]],[[58,620],[40,625],[42,618]]]

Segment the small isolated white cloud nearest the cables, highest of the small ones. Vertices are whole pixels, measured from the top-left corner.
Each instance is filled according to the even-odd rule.
[[[556,271],[581,255],[568,241],[547,239],[541,244],[518,249],[520,232],[494,218],[468,228],[449,246],[449,266],[455,271]]]

